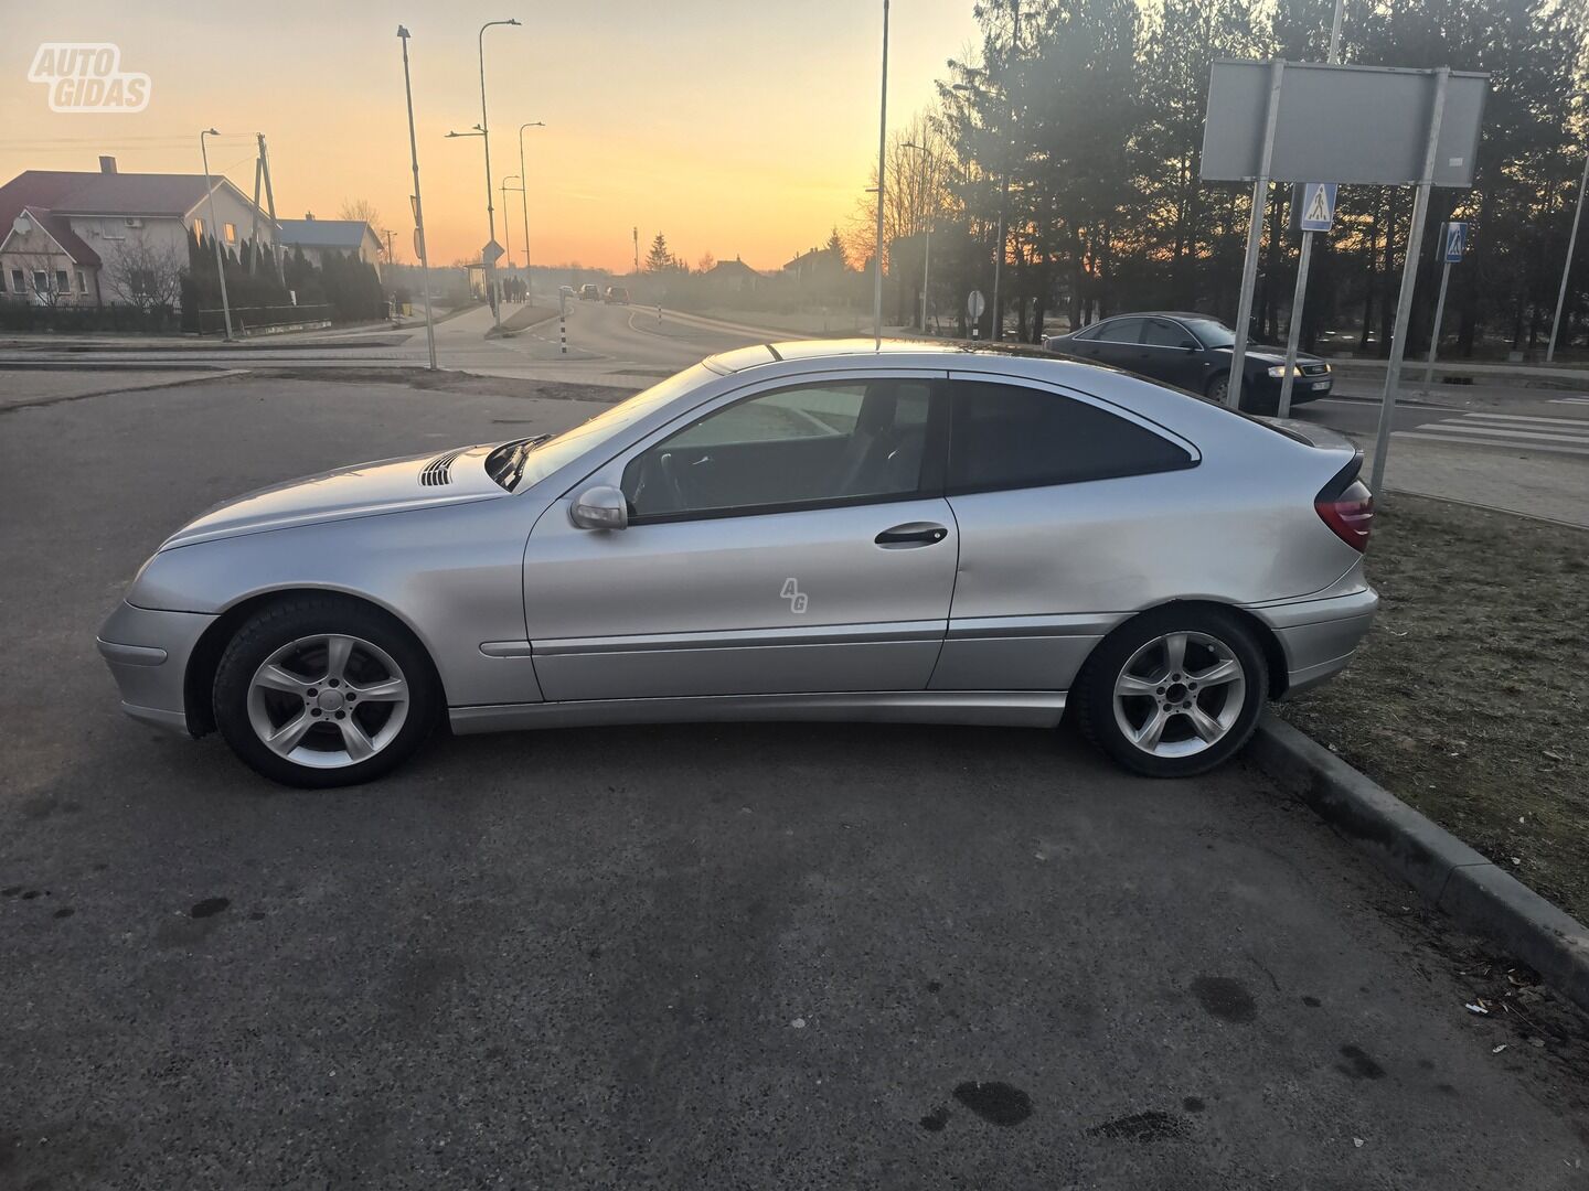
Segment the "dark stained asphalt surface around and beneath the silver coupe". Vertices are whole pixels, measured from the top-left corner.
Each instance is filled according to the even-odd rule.
[[[0,1186],[1584,1186],[1581,1019],[1465,1012],[1467,943],[1239,764],[698,726],[308,794],[119,715],[94,630],[184,518],[556,394],[0,413]]]

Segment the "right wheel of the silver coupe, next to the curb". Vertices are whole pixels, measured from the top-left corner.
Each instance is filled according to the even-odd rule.
[[[1104,637],[1073,696],[1077,726],[1100,750],[1136,773],[1184,778],[1252,737],[1268,702],[1268,665],[1235,613],[1170,605]]]

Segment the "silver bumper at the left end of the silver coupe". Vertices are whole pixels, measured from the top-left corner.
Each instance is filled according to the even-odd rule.
[[[99,632],[99,651],[121,691],[121,710],[173,732],[188,730],[188,659],[215,616],[154,611],[122,600]]]

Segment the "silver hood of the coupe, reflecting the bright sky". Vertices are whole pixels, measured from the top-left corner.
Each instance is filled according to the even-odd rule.
[[[502,497],[507,492],[485,470],[485,459],[494,446],[496,443],[488,443],[440,454],[378,459],[261,488],[189,521],[160,549],[316,521]]]

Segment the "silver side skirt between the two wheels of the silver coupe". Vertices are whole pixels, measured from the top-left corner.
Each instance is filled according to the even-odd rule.
[[[845,694],[591,699],[564,703],[488,703],[448,710],[453,732],[596,724],[841,721],[1054,727],[1063,691],[861,691]]]

